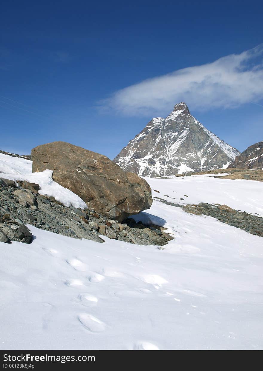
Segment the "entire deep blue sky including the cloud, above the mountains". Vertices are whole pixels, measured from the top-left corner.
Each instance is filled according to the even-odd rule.
[[[113,158],[185,101],[243,151],[263,140],[262,11],[260,1],[5,2],[0,149],[62,140]]]

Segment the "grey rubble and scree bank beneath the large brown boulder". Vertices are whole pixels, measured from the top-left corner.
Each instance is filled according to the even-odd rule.
[[[30,243],[32,233],[25,224],[73,238],[104,242],[99,235],[139,245],[167,244],[172,237],[160,227],[133,219],[107,219],[94,210],[65,207],[54,197],[38,193],[39,185],[0,178],[0,242]]]

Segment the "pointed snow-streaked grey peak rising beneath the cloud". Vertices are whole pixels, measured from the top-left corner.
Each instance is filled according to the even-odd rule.
[[[181,102],[166,118],[148,122],[113,161],[125,171],[156,177],[227,168],[239,154]]]

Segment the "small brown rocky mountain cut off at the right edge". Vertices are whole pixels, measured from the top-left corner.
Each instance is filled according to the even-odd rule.
[[[263,170],[263,141],[248,147],[235,158],[229,167]]]

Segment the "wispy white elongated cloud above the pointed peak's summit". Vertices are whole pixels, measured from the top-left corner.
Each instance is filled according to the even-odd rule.
[[[102,102],[127,115],[171,111],[184,101],[191,109],[236,107],[263,98],[263,44],[212,63],[147,79],[115,92]]]

